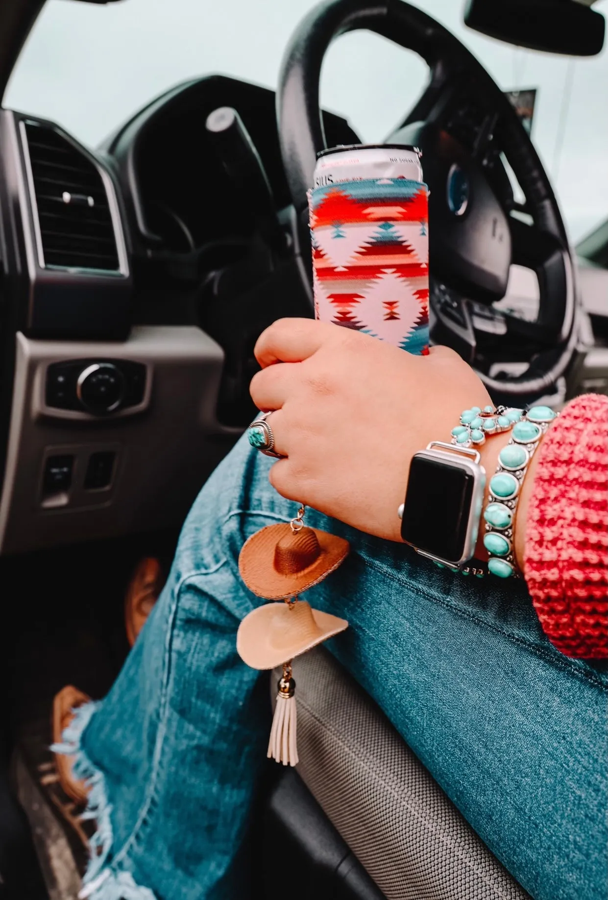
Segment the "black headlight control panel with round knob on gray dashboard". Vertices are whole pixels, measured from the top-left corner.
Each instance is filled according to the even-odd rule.
[[[139,406],[147,367],[125,359],[71,359],[47,369],[46,406],[107,416]]]

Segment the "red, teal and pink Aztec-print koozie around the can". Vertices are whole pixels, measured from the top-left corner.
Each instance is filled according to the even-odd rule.
[[[408,178],[308,192],[315,315],[428,353],[428,189]]]

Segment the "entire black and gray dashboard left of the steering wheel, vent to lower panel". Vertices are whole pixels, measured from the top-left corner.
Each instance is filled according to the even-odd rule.
[[[264,209],[206,127],[222,106],[266,173]],[[0,554],[181,525],[253,418],[255,339],[311,314],[289,231],[263,87],[178,85],[94,151],[0,110]]]

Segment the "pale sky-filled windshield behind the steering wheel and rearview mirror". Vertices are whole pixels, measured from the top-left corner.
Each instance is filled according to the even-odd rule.
[[[94,146],[176,83],[222,73],[275,87],[282,51],[316,0],[48,0],[4,95],[4,105],[58,121]],[[450,29],[505,91],[536,89],[532,139],[577,241],[608,215],[608,51],[565,58],[469,31],[462,4],[416,4]],[[608,12],[608,0],[594,7]],[[360,31],[335,41],[321,101],[366,142],[380,141],[425,85],[413,53]]]

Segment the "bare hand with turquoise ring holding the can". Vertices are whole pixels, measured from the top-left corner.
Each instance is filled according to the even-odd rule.
[[[276,321],[255,356],[263,370],[251,396],[260,410],[276,410],[269,421],[286,457],[270,470],[273,487],[390,540],[401,539],[397,509],[412,455],[449,441],[462,410],[491,402],[447,347],[411,356],[327,322]]]

